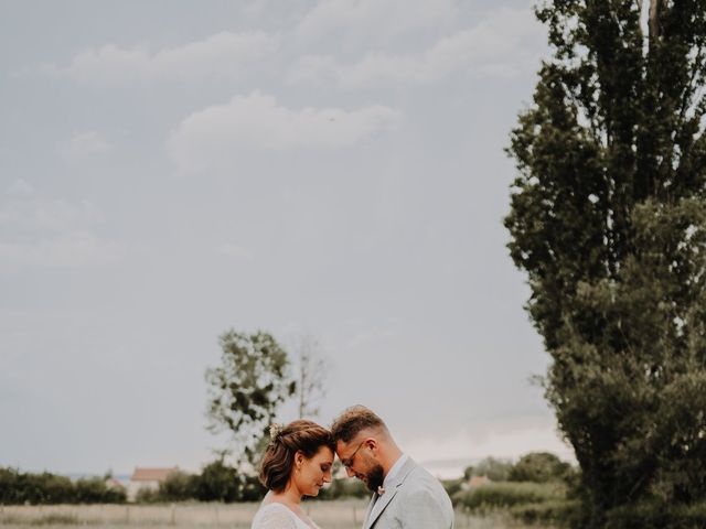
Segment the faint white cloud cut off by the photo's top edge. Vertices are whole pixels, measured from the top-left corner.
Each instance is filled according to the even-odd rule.
[[[301,20],[296,34],[318,39],[350,33],[359,42],[391,39],[409,31],[439,29],[452,21],[452,0],[322,0]]]

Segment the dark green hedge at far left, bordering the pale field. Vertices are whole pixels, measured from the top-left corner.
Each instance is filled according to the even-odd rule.
[[[125,492],[106,486],[103,478],[69,478],[44,472],[0,468],[0,505],[122,504]]]

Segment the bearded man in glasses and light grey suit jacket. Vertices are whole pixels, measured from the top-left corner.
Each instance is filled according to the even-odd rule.
[[[364,406],[345,410],[331,427],[349,477],[373,493],[363,529],[452,529],[453,507],[431,474],[404,454],[383,420]]]

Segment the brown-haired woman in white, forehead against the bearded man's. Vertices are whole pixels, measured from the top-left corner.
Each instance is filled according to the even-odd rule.
[[[301,498],[317,496],[331,482],[335,447],[331,432],[299,420],[270,427],[270,438],[259,475],[269,492],[252,529],[319,529],[301,509]]]

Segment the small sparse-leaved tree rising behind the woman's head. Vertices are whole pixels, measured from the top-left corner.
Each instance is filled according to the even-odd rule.
[[[268,333],[228,331],[220,337],[221,365],[206,370],[210,430],[229,431],[238,462],[254,464],[279,406],[295,393],[285,349]]]

